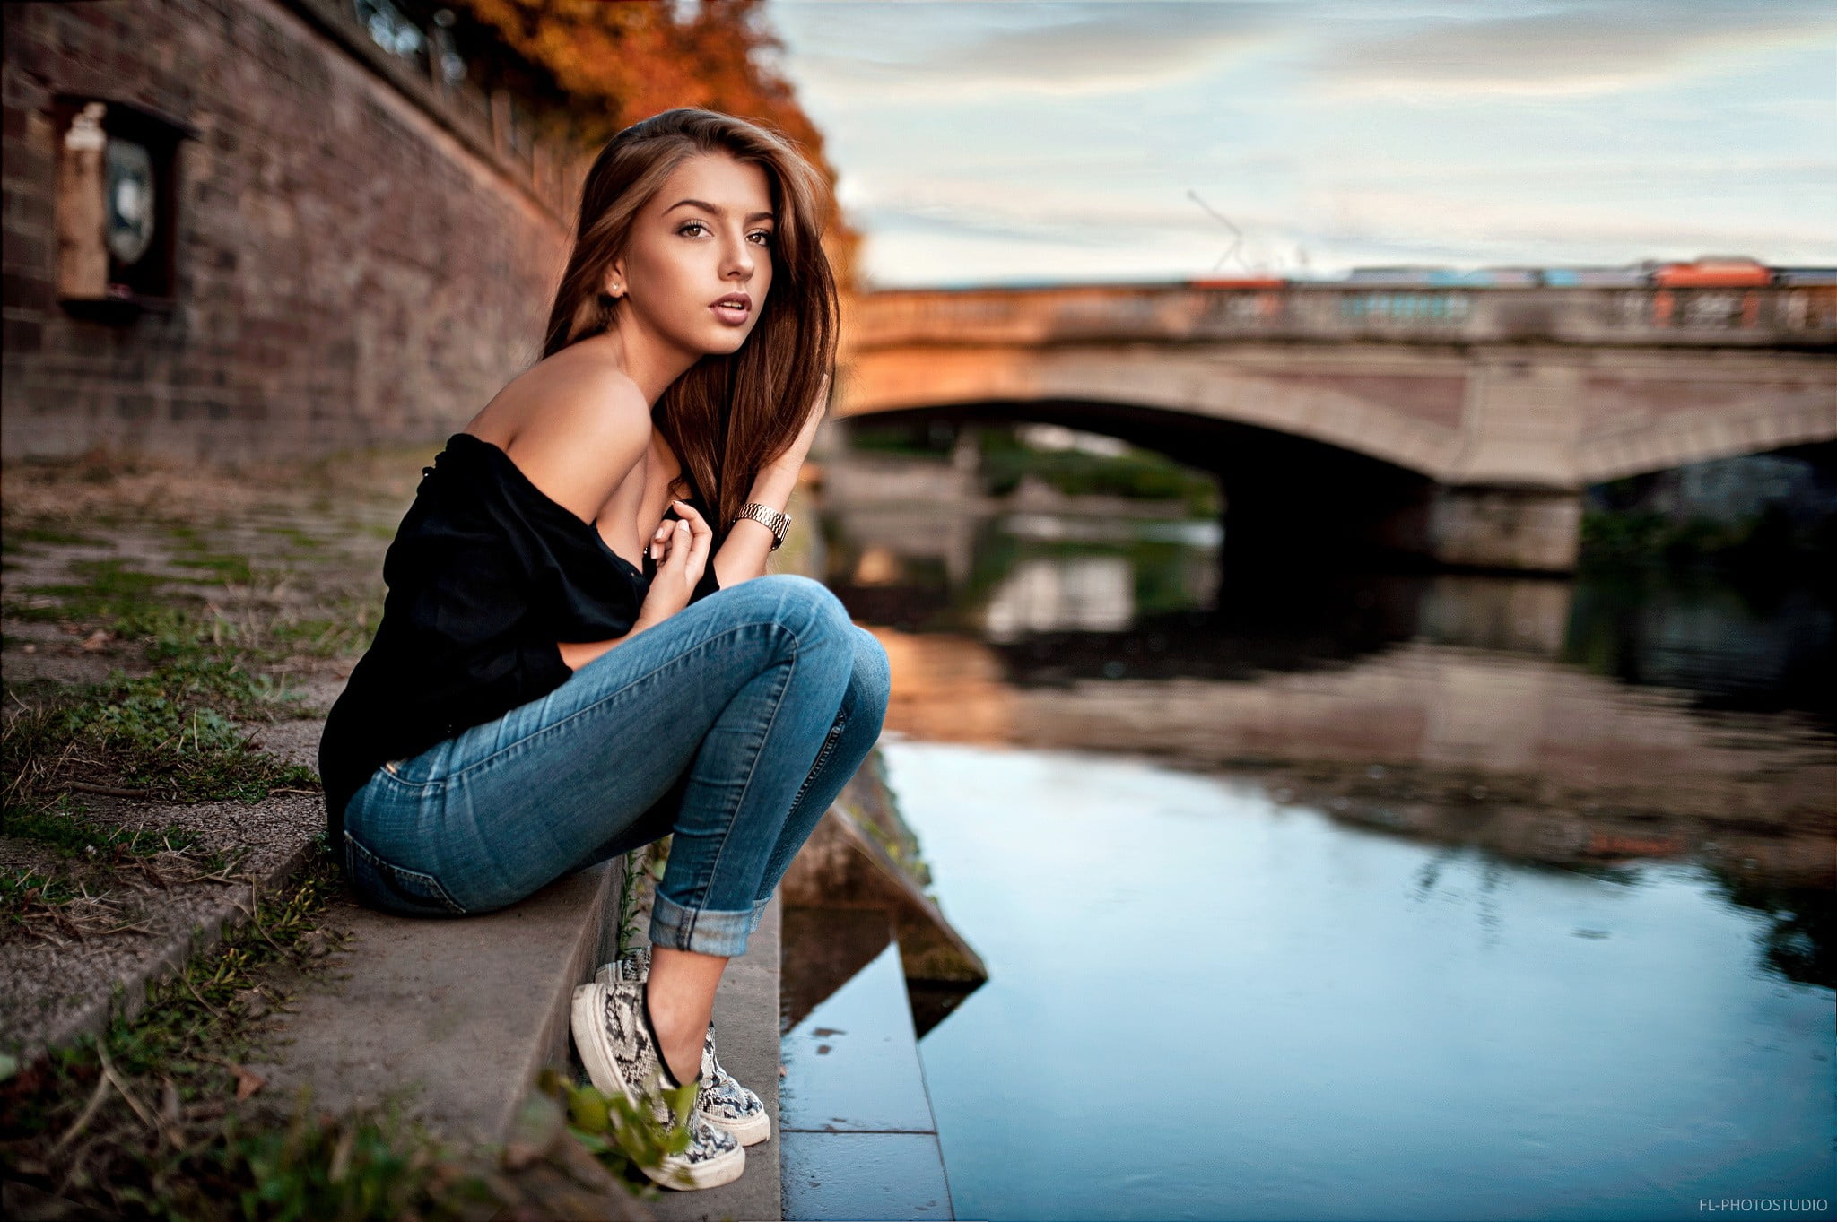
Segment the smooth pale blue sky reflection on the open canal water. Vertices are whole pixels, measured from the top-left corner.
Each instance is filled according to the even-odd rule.
[[[1088,752],[884,750],[990,969],[920,1044],[959,1216],[1837,1198],[1831,991],[1775,974],[1778,927],[1699,866],[1558,870]]]

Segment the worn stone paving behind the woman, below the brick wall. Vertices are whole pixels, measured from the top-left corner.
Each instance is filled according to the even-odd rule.
[[[263,650],[257,673],[290,697],[272,703],[272,721],[239,723],[252,745],[316,769],[323,714],[380,615],[382,554],[435,450],[242,475],[160,462],[127,472],[9,464],[0,481],[7,723],[110,672],[152,673],[151,637],[119,637],[108,624],[121,609],[147,617],[187,607],[222,642]],[[64,780],[112,787],[107,771],[81,758],[61,763]],[[83,789],[66,802],[97,828],[176,829],[195,844],[186,855],[154,857],[151,868],[103,870],[0,829],[0,872],[9,879],[55,873],[96,895],[64,906],[66,919],[0,923],[0,1031],[13,1051],[99,1029],[116,983],[134,1013],[151,978],[239,919],[252,886],[274,886],[299,866],[325,820],[310,787],[254,804]],[[213,855],[235,866],[204,877],[198,862]]]

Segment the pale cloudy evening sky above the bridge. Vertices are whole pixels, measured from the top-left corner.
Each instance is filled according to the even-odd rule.
[[[1830,0],[768,0],[871,286],[1837,264]]]

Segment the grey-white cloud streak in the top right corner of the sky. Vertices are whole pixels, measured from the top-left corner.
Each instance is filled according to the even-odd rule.
[[[1376,29],[1367,20],[1374,9],[1348,13]],[[1585,0],[1484,13],[1370,39],[1343,28],[1317,70],[1354,92],[1600,94],[1690,75],[1729,55],[1817,46],[1837,31],[1837,7],[1800,0]]]

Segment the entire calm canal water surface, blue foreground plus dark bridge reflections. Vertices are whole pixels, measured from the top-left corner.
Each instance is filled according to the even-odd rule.
[[[1828,596],[830,514],[957,1216],[1833,1216]]]

